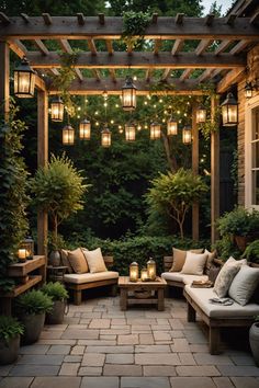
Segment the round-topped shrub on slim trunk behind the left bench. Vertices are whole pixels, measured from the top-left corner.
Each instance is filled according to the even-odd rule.
[[[33,204],[38,210],[48,213],[53,227],[50,243],[55,250],[60,249],[58,226],[72,213],[82,208],[82,195],[89,186],[82,182],[80,171],[77,171],[65,155],[61,157],[53,155],[49,163],[38,169],[31,180]],[[60,255],[58,258],[60,260]],[[58,258],[50,264],[58,265]]]

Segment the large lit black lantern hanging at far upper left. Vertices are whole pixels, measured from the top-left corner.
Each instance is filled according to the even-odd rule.
[[[33,98],[35,87],[35,71],[23,57],[21,64],[14,69],[14,95],[18,98]]]

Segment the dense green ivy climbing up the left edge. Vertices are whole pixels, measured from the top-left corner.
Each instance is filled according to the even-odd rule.
[[[18,107],[11,103],[8,122],[0,124],[0,287],[5,290],[12,286],[5,277],[7,269],[29,227],[25,213],[29,174],[20,156],[26,126],[15,119],[16,112]]]

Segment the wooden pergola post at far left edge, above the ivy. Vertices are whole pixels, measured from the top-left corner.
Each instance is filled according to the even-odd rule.
[[[0,41],[0,112],[1,118],[8,119],[10,98],[10,49],[7,42]]]

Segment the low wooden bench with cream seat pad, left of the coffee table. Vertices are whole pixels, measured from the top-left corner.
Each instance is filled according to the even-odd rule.
[[[113,258],[112,256],[103,256],[105,265],[109,269],[112,267],[113,265]],[[103,278],[103,279],[94,279],[94,277],[97,277],[98,275],[100,275],[99,277],[102,277],[102,275],[105,277],[105,275],[112,275],[112,278]],[[115,296],[116,295],[116,286],[117,286],[117,279],[119,279],[119,274],[116,275],[116,272],[111,272],[108,271],[106,273],[97,273],[97,274],[65,274],[64,275],[64,282],[66,285],[66,288],[68,288],[69,290],[71,290],[72,293],[72,299],[74,299],[74,304],[75,305],[80,305],[81,300],[82,300],[82,290],[83,289],[90,289],[90,288],[95,288],[95,287],[103,287],[103,286],[111,286],[112,290],[111,290],[111,295]],[[86,283],[74,283],[74,282],[69,282],[69,277],[72,278],[72,275],[75,277],[75,275],[77,277],[80,278],[80,276],[86,276],[88,277]],[[92,281],[91,281],[92,277]]]

